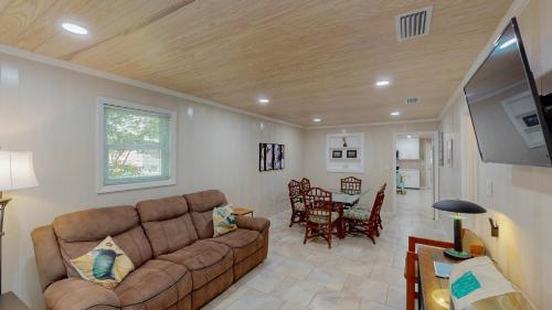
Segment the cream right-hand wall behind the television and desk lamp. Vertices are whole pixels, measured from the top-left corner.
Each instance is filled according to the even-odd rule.
[[[552,1],[532,0],[518,14],[531,70],[541,94],[552,92]],[[460,135],[463,96],[445,113],[440,128],[445,136]],[[467,156],[460,143],[455,156]],[[460,165],[439,169],[442,199],[461,197]],[[469,180],[467,180],[469,182]],[[466,221],[485,242],[488,254],[503,274],[531,299],[537,309],[552,304],[552,169],[499,163],[477,164],[477,202],[487,214]],[[488,192],[487,184],[491,183]],[[490,236],[488,217],[498,222],[500,235]],[[450,226],[443,218],[445,227]]]

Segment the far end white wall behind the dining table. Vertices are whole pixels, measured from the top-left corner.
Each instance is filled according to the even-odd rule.
[[[305,175],[311,180],[311,185],[325,189],[339,189],[340,179],[353,175],[362,179],[363,189],[372,189],[361,204],[371,205],[378,188],[388,183],[388,191],[382,210],[393,211],[393,181],[395,178],[394,135],[397,132],[437,130],[438,122],[415,122],[401,125],[381,125],[352,128],[332,128],[307,130],[305,133],[304,162]],[[364,133],[364,173],[336,173],[326,171],[326,136],[329,133],[363,132]]]

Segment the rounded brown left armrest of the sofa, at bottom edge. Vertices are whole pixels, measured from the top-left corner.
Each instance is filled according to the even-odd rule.
[[[120,301],[113,290],[79,278],[63,279],[44,291],[46,309],[56,310],[113,310],[120,309]]]

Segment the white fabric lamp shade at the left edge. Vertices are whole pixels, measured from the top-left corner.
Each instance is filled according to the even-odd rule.
[[[32,152],[0,151],[0,191],[22,190],[38,185]]]

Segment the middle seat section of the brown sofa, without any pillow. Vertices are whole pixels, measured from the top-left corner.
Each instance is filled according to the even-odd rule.
[[[192,309],[199,309],[232,285],[231,248],[198,238],[187,201],[182,196],[142,201],[136,207],[153,256],[190,270]]]

